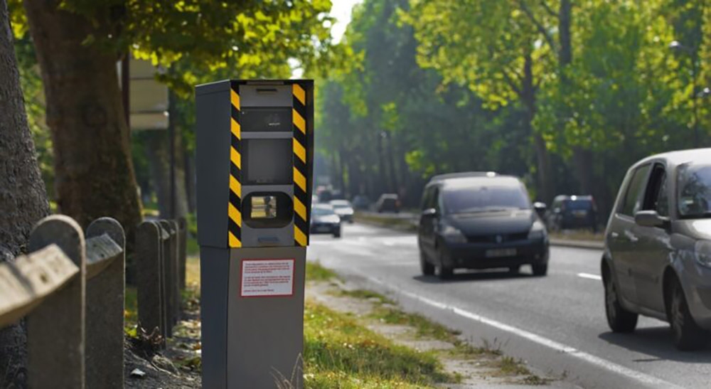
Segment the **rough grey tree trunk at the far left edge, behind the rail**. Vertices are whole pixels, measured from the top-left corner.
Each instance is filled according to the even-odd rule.
[[[10,21],[0,0],[0,262],[25,250],[34,223],[49,213],[27,125]],[[22,326],[0,330],[0,383],[25,387],[26,337]],[[19,374],[18,374],[19,373]]]

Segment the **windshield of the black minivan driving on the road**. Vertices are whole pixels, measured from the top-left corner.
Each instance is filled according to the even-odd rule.
[[[506,209],[528,209],[528,194],[519,186],[465,186],[445,188],[447,213],[471,213]]]

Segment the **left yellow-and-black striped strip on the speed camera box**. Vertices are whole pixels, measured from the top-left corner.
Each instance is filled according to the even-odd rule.
[[[237,82],[230,85],[232,103],[230,119],[230,203],[228,204],[228,244],[242,247],[242,134],[240,128],[240,94]]]

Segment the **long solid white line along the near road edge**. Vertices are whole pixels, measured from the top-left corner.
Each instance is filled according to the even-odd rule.
[[[646,385],[656,385],[656,386],[660,386],[663,388],[681,388],[678,385],[667,382],[665,380],[661,380],[660,378],[656,378],[653,375],[648,375],[648,374],[642,373],[640,371],[632,370],[631,368],[626,368],[625,366],[621,366],[617,363],[607,361],[606,359],[600,358],[598,356],[594,356],[590,353],[586,353],[585,351],[580,351],[577,348],[567,346],[563,343],[559,343],[557,341],[547,339],[547,338],[537,335],[537,334],[533,334],[533,332],[526,331],[525,329],[519,329],[515,326],[510,326],[508,324],[502,323],[501,321],[488,319],[485,316],[481,316],[479,314],[474,314],[470,311],[466,311],[464,309],[454,307],[453,305],[437,302],[432,299],[428,299],[427,297],[419,296],[418,294],[415,294],[412,292],[406,292],[405,290],[394,287],[391,284],[385,284],[385,282],[380,281],[380,279],[375,279],[375,278],[369,277],[368,275],[365,275],[365,273],[363,273],[363,272],[358,271],[358,273],[360,273],[360,275],[362,277],[365,277],[365,279],[375,282],[376,284],[380,284],[381,286],[383,286],[387,289],[396,290],[400,294],[404,294],[405,296],[410,297],[411,299],[415,299],[419,302],[422,302],[424,304],[427,304],[429,306],[432,306],[432,307],[435,307],[438,309],[452,311],[454,314],[465,317],[466,319],[471,319],[473,321],[479,321],[479,323],[486,324],[488,326],[493,326],[496,329],[500,329],[502,331],[506,331],[511,334],[520,336],[524,339],[528,339],[529,341],[533,341],[534,343],[538,343],[542,346],[552,348],[555,351],[570,354],[570,356],[582,359],[582,361],[592,363],[593,365],[598,366],[600,368],[604,368],[608,371],[612,371],[614,373],[624,375],[628,378],[632,378],[634,380],[637,380],[640,383],[643,383]]]

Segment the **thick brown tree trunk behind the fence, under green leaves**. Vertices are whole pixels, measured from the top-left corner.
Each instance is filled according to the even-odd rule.
[[[47,97],[57,203],[81,225],[116,218],[132,243],[141,209],[119,91],[119,55],[83,43],[90,35],[108,36],[92,26],[111,26],[109,12],[90,21],[58,9],[59,3],[24,1]]]

